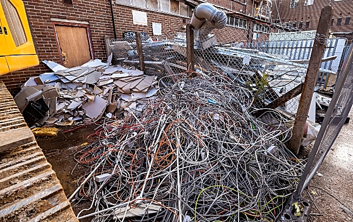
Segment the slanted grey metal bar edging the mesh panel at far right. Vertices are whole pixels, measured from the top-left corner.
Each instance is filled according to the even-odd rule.
[[[349,50],[349,54],[348,54],[348,57],[346,59],[346,63],[345,63],[345,66],[342,70],[342,76],[341,78],[339,78],[338,82],[337,82],[337,87],[336,87],[336,90],[335,90],[335,93],[333,94],[332,96],[332,99],[331,99],[331,102],[330,102],[330,105],[328,106],[327,108],[327,111],[326,111],[326,115],[325,115],[325,118],[321,124],[321,128],[320,128],[320,131],[318,133],[318,136],[316,137],[316,140],[315,140],[315,143],[314,143],[314,146],[310,152],[310,155],[309,155],[309,158],[308,158],[308,161],[305,165],[305,169],[304,169],[304,172],[303,172],[303,175],[299,181],[299,185],[297,187],[297,190],[294,194],[294,198],[297,200],[298,197],[301,195],[302,193],[302,190],[304,187],[304,184],[305,184],[305,181],[307,180],[307,177],[310,173],[310,170],[312,168],[312,164],[314,162],[314,159],[316,157],[316,155],[321,155],[321,153],[317,153],[318,149],[319,149],[319,146],[320,146],[320,143],[321,143],[321,140],[325,134],[325,131],[330,123],[330,120],[331,120],[331,116],[332,116],[332,113],[333,113],[333,110],[335,109],[336,107],[336,103],[338,101],[338,98],[341,94],[341,91],[342,91],[342,88],[343,88],[343,85],[344,85],[344,82],[347,78],[347,75],[348,73],[350,72],[350,69],[352,67],[352,63],[353,63],[353,47],[350,48]]]

